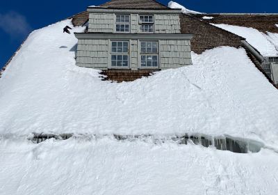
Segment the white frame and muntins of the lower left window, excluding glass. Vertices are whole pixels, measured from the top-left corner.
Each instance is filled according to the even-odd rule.
[[[124,42],[127,42],[127,52],[113,52],[113,42],[122,42],[122,48],[124,48]],[[116,48],[118,48],[116,46]],[[108,68],[110,69],[129,69],[130,66],[130,40],[109,40],[109,65]],[[127,66],[117,66],[117,59],[113,60],[112,56],[127,56]],[[112,65],[112,61],[116,61],[116,66]],[[122,62],[123,62],[123,57],[122,57]]]

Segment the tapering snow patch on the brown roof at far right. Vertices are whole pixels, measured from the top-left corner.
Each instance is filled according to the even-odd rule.
[[[247,42],[256,48],[263,56],[278,56],[278,34],[261,33],[260,31],[243,26],[232,26],[228,24],[213,24],[221,29],[235,33],[246,38]]]

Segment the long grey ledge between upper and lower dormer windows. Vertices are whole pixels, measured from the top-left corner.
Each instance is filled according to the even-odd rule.
[[[78,39],[159,39],[159,40],[191,40],[192,34],[125,34],[125,33],[74,33]]]

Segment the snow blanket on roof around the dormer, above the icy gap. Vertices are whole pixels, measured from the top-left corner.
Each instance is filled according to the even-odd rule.
[[[0,134],[202,133],[277,143],[278,91],[244,49],[193,54],[194,65],[117,84],[76,67],[77,40],[65,25],[33,32],[3,72]]]

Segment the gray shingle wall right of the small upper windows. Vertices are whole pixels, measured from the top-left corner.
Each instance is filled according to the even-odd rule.
[[[179,15],[154,15],[154,33],[181,33]]]

